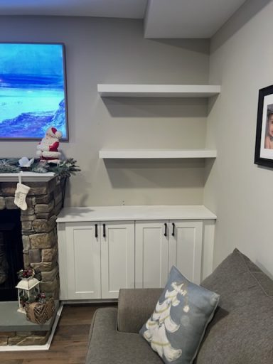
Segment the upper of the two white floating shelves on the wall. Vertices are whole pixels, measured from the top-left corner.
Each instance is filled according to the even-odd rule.
[[[100,96],[111,97],[210,97],[220,94],[219,85],[107,85],[98,84]]]

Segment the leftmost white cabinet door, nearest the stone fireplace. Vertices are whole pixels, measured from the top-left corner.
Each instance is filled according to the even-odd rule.
[[[95,223],[67,223],[68,299],[100,299],[100,241]]]

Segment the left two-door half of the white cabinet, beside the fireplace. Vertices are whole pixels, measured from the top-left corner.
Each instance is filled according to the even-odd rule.
[[[116,299],[134,287],[133,222],[65,223],[58,237],[60,299]]]

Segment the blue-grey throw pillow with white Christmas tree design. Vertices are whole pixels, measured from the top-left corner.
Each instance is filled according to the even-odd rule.
[[[154,313],[139,333],[164,363],[191,364],[219,298],[171,267]]]

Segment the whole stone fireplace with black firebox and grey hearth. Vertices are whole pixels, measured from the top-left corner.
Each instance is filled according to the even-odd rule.
[[[59,269],[58,239],[56,217],[63,207],[65,179],[53,173],[23,173],[22,183],[31,189],[26,197],[27,210],[20,210],[14,204],[14,194],[18,182],[17,173],[0,175],[0,297],[6,285],[6,274],[11,269],[33,267],[36,277],[41,281],[41,291],[52,294],[58,307]],[[13,214],[13,212],[15,214]],[[5,216],[5,218],[1,218]],[[18,222],[16,222],[18,220]],[[18,225],[19,224],[19,225]],[[7,235],[13,225],[18,225],[18,232]],[[8,237],[6,237],[8,236]],[[15,238],[14,238],[15,237]],[[5,241],[6,239],[6,241]],[[15,241],[14,241],[15,240]],[[6,245],[13,244],[11,254],[18,250],[18,259],[9,259]],[[20,264],[20,267],[18,265]],[[0,274],[0,275],[1,275]],[[12,282],[12,279],[11,279]],[[11,286],[15,286],[14,283]],[[2,291],[3,292],[3,291]],[[9,302],[6,302],[9,301]],[[0,298],[0,346],[35,346],[47,343],[53,321],[44,325],[36,325],[26,320],[24,314],[18,313],[16,300]]]

